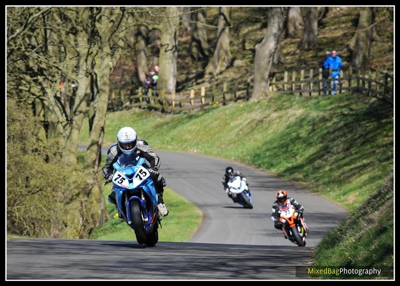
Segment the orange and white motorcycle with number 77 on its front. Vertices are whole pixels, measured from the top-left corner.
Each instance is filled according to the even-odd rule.
[[[304,219],[299,216],[298,211],[294,208],[289,208],[279,212],[279,222],[283,224],[282,230],[285,237],[298,246],[305,246],[308,228]]]

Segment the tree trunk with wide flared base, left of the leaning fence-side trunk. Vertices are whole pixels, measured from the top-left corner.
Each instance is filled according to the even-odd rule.
[[[229,51],[230,7],[219,8],[218,32],[214,55],[205,68],[205,73],[220,74],[230,66]]]

